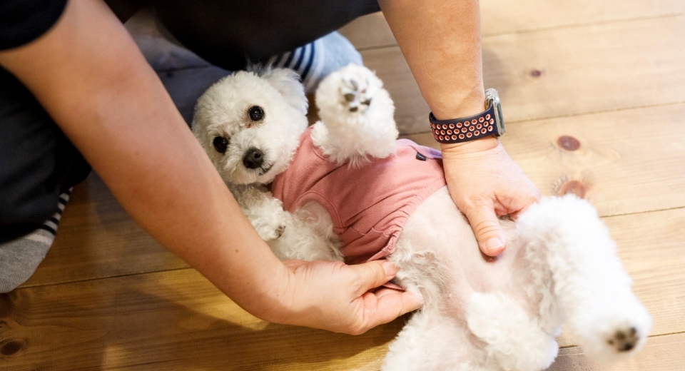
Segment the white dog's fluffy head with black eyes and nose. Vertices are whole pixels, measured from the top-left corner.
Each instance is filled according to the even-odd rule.
[[[293,71],[240,71],[198,99],[193,133],[224,181],[267,184],[288,167],[308,125],[307,106]]]

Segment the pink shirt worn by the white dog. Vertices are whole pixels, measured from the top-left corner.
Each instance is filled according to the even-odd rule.
[[[273,180],[274,197],[290,212],[311,200],[328,210],[346,263],[390,255],[407,218],[445,186],[440,152],[400,139],[394,155],[338,166],[314,146],[311,131],[300,136],[293,162]]]

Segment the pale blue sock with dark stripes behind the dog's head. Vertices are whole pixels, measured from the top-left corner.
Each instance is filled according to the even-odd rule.
[[[267,65],[295,70],[302,78],[306,93],[312,94],[329,73],[350,63],[362,64],[362,56],[345,36],[334,31],[298,49],[271,57]]]

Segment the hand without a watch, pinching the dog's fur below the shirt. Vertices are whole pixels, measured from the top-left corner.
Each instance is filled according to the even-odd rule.
[[[285,306],[271,322],[359,335],[423,304],[420,294],[380,288],[397,268],[385,260],[360,265],[316,260],[283,261],[287,278],[279,290]]]

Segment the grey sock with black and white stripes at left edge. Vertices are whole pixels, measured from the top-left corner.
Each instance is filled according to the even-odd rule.
[[[52,245],[71,189],[59,196],[55,213],[28,235],[0,243],[0,293],[9,293],[26,282]]]

